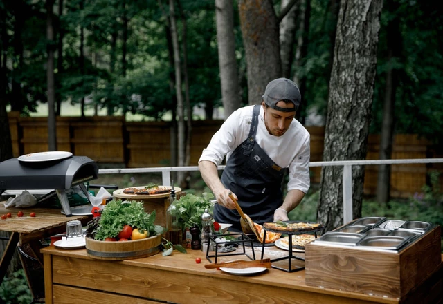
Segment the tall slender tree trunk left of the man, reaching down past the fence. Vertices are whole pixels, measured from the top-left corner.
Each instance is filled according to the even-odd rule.
[[[169,0],[169,10],[171,19],[171,37],[172,47],[174,48],[174,70],[175,70],[175,93],[177,95],[177,116],[179,123],[177,128],[177,146],[178,146],[178,165],[183,167],[185,165],[185,120],[184,120],[184,106],[183,95],[181,93],[181,60],[179,53],[179,39],[177,37],[177,19],[174,11],[174,0]],[[182,184],[185,180],[183,172],[177,173],[177,184]]]

